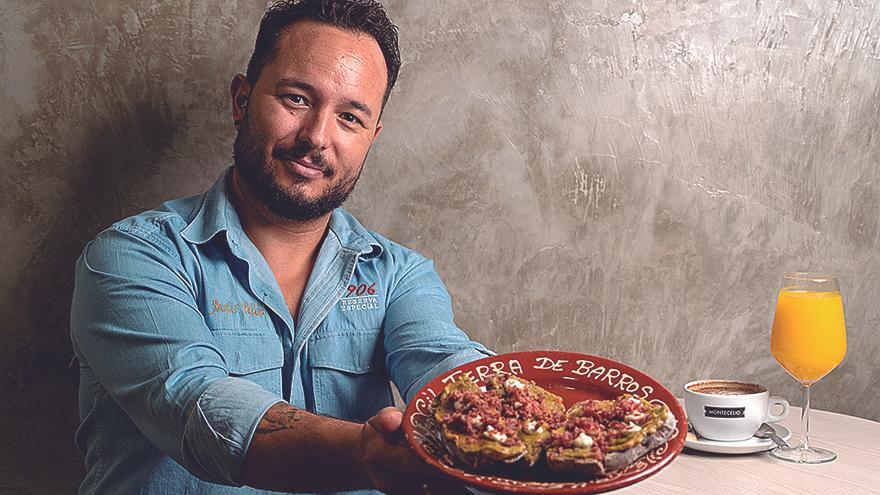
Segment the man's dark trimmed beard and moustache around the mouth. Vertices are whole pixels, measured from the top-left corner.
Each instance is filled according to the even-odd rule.
[[[285,188],[273,172],[269,159],[253,138],[248,125],[248,115],[242,121],[235,136],[233,160],[235,169],[241,176],[251,194],[266,206],[273,214],[288,220],[308,221],[322,217],[342,206],[360,178],[363,163],[357,173],[340,177],[332,181],[338,174],[336,167],[329,163],[324,155],[304,141],[297,141],[293,146],[276,145],[272,149],[272,158],[276,160],[297,160],[305,157],[320,168],[330,184],[314,199],[306,197],[305,192],[297,187]],[[366,160],[366,156],[364,157]],[[295,184],[305,184],[311,179],[294,176]]]

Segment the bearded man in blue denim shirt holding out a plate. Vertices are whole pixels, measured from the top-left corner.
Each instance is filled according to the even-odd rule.
[[[85,247],[81,493],[416,493],[389,378],[408,400],[489,352],[428,260],[339,208],[399,65],[372,0],[274,5],[231,85],[234,166]]]

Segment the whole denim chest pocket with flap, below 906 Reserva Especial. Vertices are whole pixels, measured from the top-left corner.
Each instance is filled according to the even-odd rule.
[[[309,342],[315,408],[351,421],[366,421],[394,404],[379,329],[326,332]]]

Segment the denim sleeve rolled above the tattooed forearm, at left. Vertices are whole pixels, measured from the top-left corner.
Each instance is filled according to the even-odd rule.
[[[263,414],[281,399],[229,376],[180,254],[161,236],[111,229],[77,262],[77,356],[163,454],[193,475],[236,478]]]

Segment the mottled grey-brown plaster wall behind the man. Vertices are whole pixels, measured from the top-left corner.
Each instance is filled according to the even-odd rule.
[[[775,291],[836,272],[850,351],[815,403],[880,419],[875,2],[387,5],[405,65],[349,207],[437,260],[473,337],[798,400],[769,354]],[[227,165],[264,6],[0,9],[0,492],[77,482],[73,262]]]

